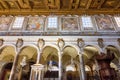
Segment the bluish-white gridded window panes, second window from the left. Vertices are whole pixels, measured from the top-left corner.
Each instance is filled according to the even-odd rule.
[[[58,17],[48,17],[48,29],[56,29],[58,27]]]

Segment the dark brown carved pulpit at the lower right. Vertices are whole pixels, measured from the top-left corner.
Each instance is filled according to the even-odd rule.
[[[116,80],[116,72],[114,68],[110,67],[110,63],[114,57],[114,54],[110,50],[107,50],[107,54],[101,53],[101,55],[96,56],[96,60],[100,66],[99,73],[101,80]]]

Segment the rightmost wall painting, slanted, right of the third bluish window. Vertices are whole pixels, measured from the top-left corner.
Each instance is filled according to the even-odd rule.
[[[108,15],[96,15],[95,16],[98,29],[101,31],[111,31],[114,30],[114,26],[111,17]]]

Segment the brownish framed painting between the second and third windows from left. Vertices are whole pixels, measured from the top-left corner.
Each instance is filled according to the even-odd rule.
[[[62,17],[61,18],[62,31],[79,31],[79,24],[77,17]]]

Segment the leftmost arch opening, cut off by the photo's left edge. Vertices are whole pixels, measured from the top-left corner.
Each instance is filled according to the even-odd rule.
[[[5,78],[6,79],[9,78],[15,55],[16,55],[15,48],[13,46],[5,45],[4,47],[1,48],[0,50],[0,80],[5,80]]]

